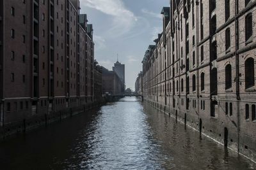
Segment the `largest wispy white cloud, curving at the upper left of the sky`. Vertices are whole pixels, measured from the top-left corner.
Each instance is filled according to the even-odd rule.
[[[81,4],[113,17],[112,25],[108,30],[109,36],[112,37],[129,32],[138,20],[132,11],[125,8],[121,0],[81,0]]]

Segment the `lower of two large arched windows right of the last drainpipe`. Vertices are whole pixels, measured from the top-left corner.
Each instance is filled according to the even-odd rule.
[[[249,58],[245,60],[244,63],[244,74],[245,74],[245,89],[253,87],[255,85],[254,82],[254,59]]]

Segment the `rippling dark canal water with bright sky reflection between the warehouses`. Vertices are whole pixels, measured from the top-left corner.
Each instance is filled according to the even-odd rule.
[[[139,98],[0,143],[0,169],[254,169]]]

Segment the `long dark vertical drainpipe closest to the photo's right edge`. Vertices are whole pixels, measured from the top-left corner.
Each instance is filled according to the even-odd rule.
[[[237,98],[237,152],[239,153],[239,136],[240,136],[240,115],[239,115],[239,110],[240,110],[240,106],[239,106],[239,101],[241,101],[240,98],[240,92],[239,92],[239,55],[237,53],[237,50],[239,49],[239,23],[238,23],[238,17],[237,17],[237,13],[238,13],[238,0],[236,0],[235,2],[235,31],[236,31],[236,98]]]

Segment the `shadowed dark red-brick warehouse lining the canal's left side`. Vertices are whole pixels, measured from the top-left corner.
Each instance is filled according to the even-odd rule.
[[[79,0],[1,1],[2,126],[93,102],[93,27],[87,22]]]

